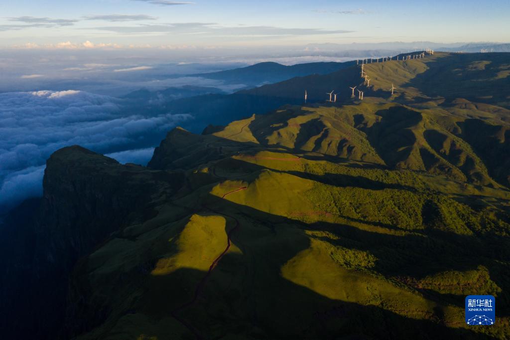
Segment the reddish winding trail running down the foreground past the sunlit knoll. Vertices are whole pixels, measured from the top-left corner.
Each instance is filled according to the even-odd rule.
[[[237,188],[236,190],[232,190],[232,191],[229,191],[229,192],[226,192],[223,194],[223,196],[221,197],[222,199],[224,199],[227,195],[230,195],[231,193],[234,193],[234,192],[237,192],[237,191],[241,191],[241,190],[245,190],[247,189],[248,187],[246,186],[239,186],[239,187],[235,187]],[[191,307],[192,305],[194,305],[197,301],[198,301],[198,298],[200,297],[200,294],[202,293],[202,290],[204,288],[204,286],[206,285],[207,283],[207,280],[209,279],[209,277],[211,276],[211,273],[213,272],[213,270],[216,268],[216,266],[218,265],[219,261],[221,260],[221,258],[228,252],[228,250],[230,249],[230,247],[232,246],[232,235],[234,234],[234,232],[236,232],[239,227],[240,227],[240,223],[239,223],[239,220],[232,216],[232,215],[227,215],[227,214],[224,214],[224,213],[220,213],[218,211],[215,211],[214,209],[212,208],[209,208],[207,206],[203,206],[204,208],[208,209],[208,210],[211,210],[219,215],[223,215],[223,216],[226,216],[226,217],[230,217],[232,218],[235,222],[236,222],[236,225],[234,226],[234,228],[232,228],[228,233],[227,233],[227,244],[226,244],[226,247],[225,249],[223,250],[223,252],[214,259],[214,261],[211,263],[211,265],[209,266],[209,271],[206,273],[205,276],[202,277],[202,279],[198,282],[196,288],[195,288],[195,293],[193,295],[193,299],[190,301],[190,302],[187,302],[185,303],[184,305],[180,306],[180,307],[177,307],[176,309],[174,309],[170,314],[172,315],[173,318],[175,318],[175,320],[179,321],[181,324],[183,324],[184,326],[186,326],[186,328],[188,328],[191,332],[193,332],[193,334],[195,334],[196,338],[197,339],[202,339],[203,337],[201,336],[200,332],[195,328],[193,327],[193,325],[191,325],[190,323],[188,323],[186,320],[182,319],[181,317],[179,317],[179,315],[177,315],[177,312],[179,311],[182,311],[188,307]]]

